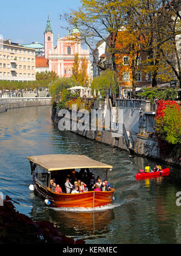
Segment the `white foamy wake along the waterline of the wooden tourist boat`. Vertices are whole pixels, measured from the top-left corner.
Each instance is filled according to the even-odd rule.
[[[106,210],[109,210],[109,209],[113,209],[115,207],[118,207],[120,206],[121,203],[112,203],[110,205],[104,205],[104,206],[97,206],[97,207],[89,207],[89,208],[84,208],[84,207],[59,207],[59,208],[56,208],[56,207],[51,207],[52,210],[55,210],[55,211],[71,211],[71,212],[74,212],[74,213],[91,213],[91,212],[98,212],[98,211],[106,211]]]

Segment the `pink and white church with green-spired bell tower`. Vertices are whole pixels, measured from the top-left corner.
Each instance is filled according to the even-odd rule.
[[[72,34],[78,36],[77,30],[73,30]],[[71,77],[72,66],[75,54],[79,59],[87,60],[87,75],[91,78],[91,65],[89,49],[81,48],[78,40],[70,40],[71,36],[65,36],[57,39],[57,45],[53,46],[53,33],[49,24],[49,18],[46,25],[45,36],[45,58],[49,60],[49,70],[54,71],[59,77]]]

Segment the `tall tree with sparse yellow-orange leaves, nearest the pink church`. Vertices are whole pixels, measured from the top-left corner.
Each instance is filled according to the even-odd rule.
[[[98,40],[106,42],[107,50],[111,56],[110,69],[116,71],[115,43],[117,33],[125,24],[123,0],[81,0],[81,7],[71,14],[65,14],[64,18],[69,26],[80,31],[78,40],[82,40],[89,46],[93,56],[93,62],[101,69],[106,68],[98,63],[95,55],[95,46]]]

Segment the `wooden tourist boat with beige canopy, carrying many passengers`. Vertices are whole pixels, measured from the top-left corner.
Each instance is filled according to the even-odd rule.
[[[65,191],[66,178],[75,178],[78,173],[86,170],[88,173],[107,179],[111,165],[95,161],[84,155],[39,155],[28,156],[30,160],[33,185],[30,190],[37,191],[45,203],[55,207],[94,208],[107,205],[113,200],[114,189],[110,191],[88,191],[71,194]],[[50,189],[50,180],[56,179],[64,193],[56,193]]]

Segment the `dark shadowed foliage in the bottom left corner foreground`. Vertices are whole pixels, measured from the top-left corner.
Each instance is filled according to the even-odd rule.
[[[84,244],[62,235],[52,223],[42,220],[34,222],[30,217],[16,211],[12,199],[6,196],[0,206],[1,244]]]

